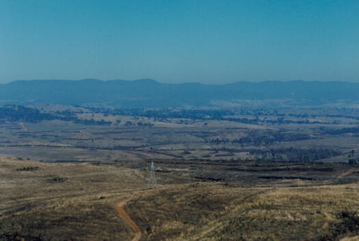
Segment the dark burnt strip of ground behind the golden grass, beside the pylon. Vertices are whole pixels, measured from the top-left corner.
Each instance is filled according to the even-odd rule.
[[[359,167],[345,163],[173,159],[156,160],[155,164],[160,174],[169,173],[198,182],[218,182],[230,186],[316,186],[359,180]],[[124,166],[142,169],[146,165],[148,162],[137,161]]]

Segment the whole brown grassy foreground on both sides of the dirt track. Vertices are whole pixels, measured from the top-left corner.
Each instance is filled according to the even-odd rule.
[[[293,178],[263,179],[258,171],[237,171],[233,178],[202,161],[191,169],[176,162],[156,165],[159,188],[148,189],[146,170],[3,157],[2,240],[9,240],[9,232],[24,240],[40,234],[44,240],[132,240],[131,224],[116,211],[129,198],[125,209],[141,240],[344,240],[359,234],[359,167],[313,164]],[[261,175],[301,166],[241,165],[261,169]],[[169,167],[175,171],[161,171]]]

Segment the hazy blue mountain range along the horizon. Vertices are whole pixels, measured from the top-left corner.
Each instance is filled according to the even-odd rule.
[[[14,81],[0,85],[0,104],[102,105],[124,108],[209,107],[241,100],[292,100],[323,104],[359,100],[359,83],[319,81],[237,82],[224,85],[137,81]]]

